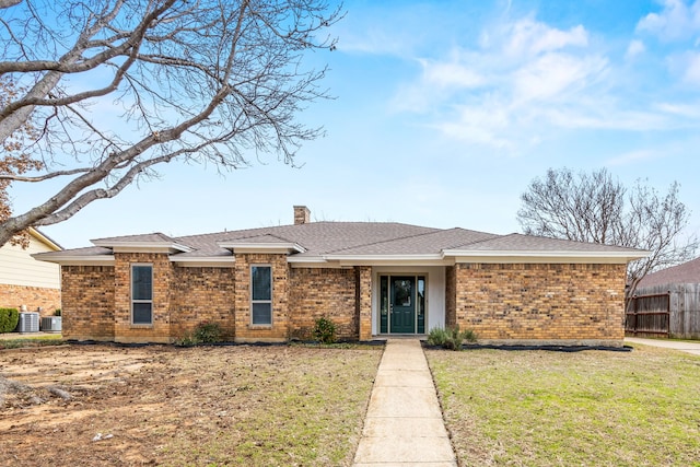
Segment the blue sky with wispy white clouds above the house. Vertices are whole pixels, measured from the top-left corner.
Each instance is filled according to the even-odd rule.
[[[549,167],[607,167],[665,191],[680,183],[700,231],[700,0],[346,2],[330,67],[336,98],[300,116],[327,136],[293,168],[170,164],[161,178],[43,227],[91,238],[179,236],[292,222],[396,221],[520,231],[528,183]],[[40,201],[18,191],[18,210]]]

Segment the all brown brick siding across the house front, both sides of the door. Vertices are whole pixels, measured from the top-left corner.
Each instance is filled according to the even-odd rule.
[[[132,325],[132,264],[153,265],[153,324]],[[250,265],[272,267],[272,325],[250,324]],[[63,266],[63,336],[172,342],[203,322],[236,341],[308,339],[316,318],[341,339],[372,338],[372,268],[291,268],[238,254],[235,267],[176,267],[166,254],[115,254],[115,266]],[[625,265],[458,264],[445,269],[445,325],[482,341],[618,341]]]

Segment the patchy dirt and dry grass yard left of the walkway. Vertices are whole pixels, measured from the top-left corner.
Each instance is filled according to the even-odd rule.
[[[381,351],[0,351],[0,465],[348,465]]]

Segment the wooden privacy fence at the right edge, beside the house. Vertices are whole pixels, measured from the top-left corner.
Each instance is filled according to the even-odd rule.
[[[699,283],[638,289],[627,305],[628,335],[700,339]]]

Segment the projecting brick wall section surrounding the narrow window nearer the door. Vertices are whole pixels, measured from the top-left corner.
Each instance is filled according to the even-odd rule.
[[[250,324],[250,265],[272,267],[272,325]],[[287,256],[238,254],[234,268],[236,341],[284,341],[290,337]]]

